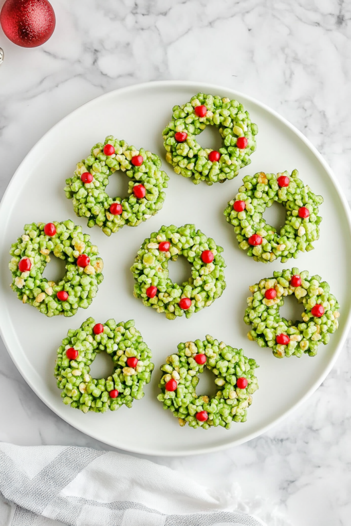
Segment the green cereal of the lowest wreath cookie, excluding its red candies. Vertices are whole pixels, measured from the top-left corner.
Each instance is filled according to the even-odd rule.
[[[198,365],[194,356],[205,354],[205,365]],[[159,386],[162,390],[157,399],[163,402],[164,409],[170,409],[178,418],[180,426],[208,429],[212,426],[230,428],[233,422],[245,422],[247,407],[252,403],[252,395],[258,389],[257,378],[254,375],[256,361],[246,358],[243,349],[233,349],[223,341],[212,336],[206,340],[187,341],[179,343],[178,354],[168,356],[165,365],[161,367],[164,376]],[[197,395],[196,386],[199,373],[207,368],[215,375],[218,392],[213,397]],[[173,392],[166,391],[165,384],[176,380],[178,386]],[[246,389],[236,387],[237,378],[246,378]],[[200,422],[196,413],[207,411],[208,420]]]

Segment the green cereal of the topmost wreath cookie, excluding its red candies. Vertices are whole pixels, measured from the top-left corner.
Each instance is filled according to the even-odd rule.
[[[194,108],[201,105],[207,108],[205,117],[194,113]],[[208,125],[215,126],[223,139],[219,161],[211,162],[208,154],[213,149],[202,148],[196,140]],[[187,133],[184,143],[178,143],[174,138],[177,131]],[[250,164],[249,156],[256,149],[257,133],[257,125],[251,122],[248,112],[237,100],[198,93],[183,106],[173,107],[172,120],[163,130],[166,160],[174,166],[176,174],[192,177],[196,185],[200,181],[206,181],[208,185],[218,181],[224,183],[226,179],[236,177],[240,168]],[[238,137],[247,138],[245,149],[236,146]]]

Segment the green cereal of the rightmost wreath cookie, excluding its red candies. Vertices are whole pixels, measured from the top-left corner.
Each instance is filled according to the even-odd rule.
[[[302,279],[300,287],[290,285],[292,276],[299,275]],[[275,299],[266,299],[265,291],[274,288],[277,292]],[[244,321],[252,325],[248,332],[249,340],[256,340],[260,347],[272,348],[276,358],[284,356],[302,356],[305,352],[309,356],[317,354],[320,343],[328,343],[329,334],[338,328],[339,304],[329,292],[329,285],[320,276],[308,278],[307,270],[299,272],[298,268],[273,272],[272,278],[264,278],[249,287],[253,296],[247,298],[248,307],[245,310]],[[298,303],[303,304],[305,310],[303,321],[286,320],[279,316],[279,308],[284,305],[284,297],[294,295]],[[320,304],[325,313],[316,318],[311,309]],[[290,341],[288,345],[278,345],[276,336],[286,334]]]

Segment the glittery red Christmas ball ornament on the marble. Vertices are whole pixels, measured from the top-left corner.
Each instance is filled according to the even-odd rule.
[[[47,0],[6,0],[0,24],[7,38],[17,46],[37,47],[55,29],[55,13]]]

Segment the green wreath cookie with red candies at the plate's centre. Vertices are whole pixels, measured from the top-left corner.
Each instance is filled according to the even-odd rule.
[[[193,312],[212,305],[225,289],[223,248],[207,238],[195,225],[163,226],[152,232],[138,251],[131,267],[136,284],[134,296],[146,307],[165,312],[166,318],[190,318]],[[191,276],[181,286],[168,277],[168,261],[184,256]]]

